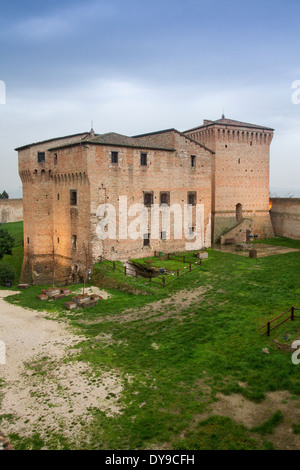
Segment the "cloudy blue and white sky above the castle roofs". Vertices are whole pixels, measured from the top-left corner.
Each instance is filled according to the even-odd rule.
[[[271,191],[300,197],[299,20],[299,0],[0,0],[0,192],[22,195],[18,146],[224,113],[275,129]]]

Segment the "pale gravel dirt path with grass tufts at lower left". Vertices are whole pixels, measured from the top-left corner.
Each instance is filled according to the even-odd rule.
[[[67,438],[76,433],[78,439],[82,423],[91,418],[88,408],[120,413],[118,371],[95,377],[88,364],[66,360],[78,354],[74,346],[85,338],[65,323],[48,320],[46,312],[7,303],[4,297],[11,294],[15,292],[0,291],[0,341],[6,346],[6,364],[0,364],[0,415],[5,415],[5,433],[49,437],[59,432]]]

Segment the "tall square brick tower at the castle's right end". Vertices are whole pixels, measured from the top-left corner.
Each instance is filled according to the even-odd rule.
[[[253,220],[262,238],[273,235],[269,216],[269,163],[273,129],[222,119],[205,120],[186,131],[215,151],[212,157],[212,239],[233,228],[238,219]],[[244,234],[245,235],[245,234]]]

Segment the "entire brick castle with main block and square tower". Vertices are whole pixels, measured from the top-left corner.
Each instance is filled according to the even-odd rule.
[[[154,251],[196,250],[216,242],[243,242],[253,231],[272,236],[273,132],[223,115],[185,132],[167,129],[128,137],[91,130],[19,147],[21,281],[75,282],[100,256],[127,260]],[[175,236],[173,212],[168,230],[159,225],[159,236],[154,237],[149,224],[140,237],[128,237],[129,213],[124,212],[136,204],[149,216],[154,206],[182,213],[189,207],[188,231],[194,239]],[[114,237],[99,238],[105,212],[100,214],[99,207],[116,208]]]

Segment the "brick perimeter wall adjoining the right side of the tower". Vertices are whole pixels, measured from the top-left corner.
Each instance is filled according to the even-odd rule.
[[[275,235],[300,240],[300,198],[272,198],[270,206]]]

